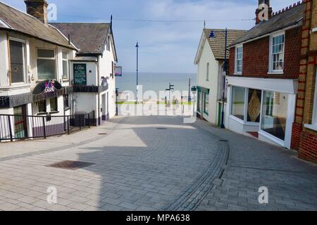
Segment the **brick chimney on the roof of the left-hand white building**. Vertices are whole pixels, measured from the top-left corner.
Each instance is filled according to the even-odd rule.
[[[27,8],[27,14],[34,16],[35,18],[47,24],[47,2],[45,0],[25,0]]]

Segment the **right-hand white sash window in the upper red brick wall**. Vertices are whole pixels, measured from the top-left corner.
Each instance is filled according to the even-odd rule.
[[[285,33],[275,34],[271,37],[270,44],[270,71],[284,71]]]

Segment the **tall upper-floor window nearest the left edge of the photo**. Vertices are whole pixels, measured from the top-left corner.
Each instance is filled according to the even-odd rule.
[[[10,41],[11,82],[24,82],[23,43]]]

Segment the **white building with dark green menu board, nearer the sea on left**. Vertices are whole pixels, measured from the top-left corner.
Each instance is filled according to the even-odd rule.
[[[95,122],[116,113],[116,47],[112,23],[52,23],[79,51],[70,63],[73,113],[94,115]],[[82,41],[85,40],[85,41]],[[92,119],[92,117],[90,117]]]

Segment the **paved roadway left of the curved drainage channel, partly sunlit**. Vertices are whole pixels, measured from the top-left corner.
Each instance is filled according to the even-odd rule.
[[[78,142],[2,159],[0,210],[182,210],[208,193],[227,157],[218,139],[180,117],[127,117],[106,136]],[[94,165],[46,166],[63,160]],[[55,205],[46,202],[50,186]]]

